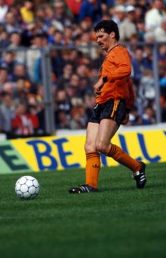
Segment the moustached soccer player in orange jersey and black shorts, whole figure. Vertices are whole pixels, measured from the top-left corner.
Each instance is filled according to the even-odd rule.
[[[107,55],[94,85],[97,105],[88,123],[85,141],[86,182],[80,187],[70,188],[69,193],[99,191],[99,153],[112,157],[131,169],[136,187],[142,189],[147,181],[145,164],[134,160],[122,148],[111,143],[119,126],[128,122],[129,111],[134,102],[133,85],[130,80],[131,58],[127,49],[117,43],[119,29],[113,20],[102,20],[94,27],[94,32],[97,43]]]

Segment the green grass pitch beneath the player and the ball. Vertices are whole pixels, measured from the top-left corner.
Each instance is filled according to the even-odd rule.
[[[147,187],[135,189],[128,169],[102,168],[99,193],[71,195],[83,169],[29,173],[35,200],[19,200],[15,182],[0,176],[0,256],[166,257],[166,164],[147,165]]]

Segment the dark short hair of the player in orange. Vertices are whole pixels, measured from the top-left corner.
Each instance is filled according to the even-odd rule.
[[[108,34],[115,32],[115,38],[117,41],[119,40],[119,28],[117,23],[112,19],[103,19],[96,26],[94,26],[94,32],[101,31],[102,28],[104,32]]]

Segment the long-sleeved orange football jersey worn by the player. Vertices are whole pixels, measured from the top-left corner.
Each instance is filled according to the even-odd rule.
[[[102,104],[110,98],[124,99],[126,107],[131,108],[134,102],[133,84],[130,79],[131,57],[124,46],[117,45],[111,49],[101,66],[99,78],[106,78],[97,103]]]

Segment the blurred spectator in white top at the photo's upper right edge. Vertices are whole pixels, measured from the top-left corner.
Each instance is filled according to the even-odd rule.
[[[153,31],[160,26],[162,19],[165,17],[163,0],[153,0],[151,10],[145,13],[146,31]]]

